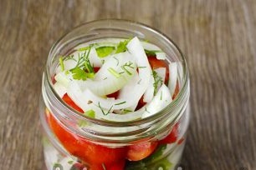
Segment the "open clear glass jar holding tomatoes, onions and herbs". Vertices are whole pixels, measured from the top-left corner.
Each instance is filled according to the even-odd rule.
[[[166,52],[169,62],[178,63],[180,90],[161,112],[131,122],[107,122],[84,117],[54,91],[53,77],[59,56],[65,56],[83,42],[135,36],[160,47]],[[44,129],[46,167],[49,170],[174,169],[185,145],[189,95],[186,59],[174,42],[161,32],[141,23],[115,19],[94,21],[74,28],[54,43],[44,71],[40,120]],[[79,122],[85,122],[86,126],[74,126]],[[135,154],[142,154],[140,151],[149,145],[156,148],[150,156],[136,161],[125,159],[127,148],[134,148]]]

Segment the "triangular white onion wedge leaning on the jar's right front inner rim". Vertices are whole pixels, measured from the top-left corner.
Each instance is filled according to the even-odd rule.
[[[169,91],[169,88],[163,83],[156,92],[156,96],[153,100],[146,106],[146,112],[142,114],[141,118],[150,117],[156,112],[161,111],[164,107],[172,102],[172,96]]]

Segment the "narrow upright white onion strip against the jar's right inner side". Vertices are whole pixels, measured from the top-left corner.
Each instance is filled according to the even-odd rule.
[[[168,87],[173,95],[177,85],[177,62],[169,63],[169,82]]]

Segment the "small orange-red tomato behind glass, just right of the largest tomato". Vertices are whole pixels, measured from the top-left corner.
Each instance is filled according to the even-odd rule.
[[[140,161],[151,155],[158,143],[138,143],[128,147],[126,158],[130,161]]]

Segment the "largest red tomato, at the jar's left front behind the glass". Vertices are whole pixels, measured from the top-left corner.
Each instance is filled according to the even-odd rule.
[[[74,107],[79,112],[80,108],[74,104],[68,95],[64,95],[63,100]],[[52,113],[47,113],[49,125],[54,131],[54,134],[63,144],[69,153],[78,157],[80,160],[89,164],[111,164],[125,160],[126,148],[107,148],[95,143],[90,143],[85,138],[70,132],[61,125],[61,122],[56,120]]]

